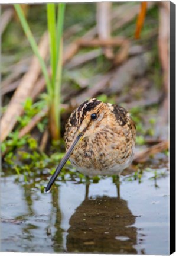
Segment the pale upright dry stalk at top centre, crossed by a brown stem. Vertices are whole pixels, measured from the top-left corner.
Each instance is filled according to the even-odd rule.
[[[97,34],[99,39],[109,39],[111,37],[110,29],[110,16],[111,16],[111,2],[97,2],[96,11],[96,24],[97,24]],[[103,49],[103,53],[107,59],[113,59],[113,51],[111,47],[106,47]]]

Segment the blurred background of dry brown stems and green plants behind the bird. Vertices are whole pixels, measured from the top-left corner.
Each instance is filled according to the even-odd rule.
[[[13,113],[14,126],[1,140],[4,172],[11,169],[22,173],[24,180],[38,172],[52,174],[63,156],[67,118],[82,101],[92,97],[122,105],[131,112],[137,128],[137,164],[158,152],[168,156],[168,6],[167,2],[146,2],[144,24],[136,39],[140,2],[109,2],[104,9],[95,2],[66,4],[58,104],[61,138],[53,140],[41,70],[35,73],[31,69],[33,52],[14,7],[1,5],[1,138],[11,126],[8,111],[15,111],[18,105]],[[47,6],[26,4],[22,8],[37,44],[44,48],[43,58],[50,73],[48,37],[44,37]],[[26,90],[24,76],[29,72],[30,78],[32,73],[35,75],[29,93],[24,98],[22,94],[16,97],[20,87]],[[22,103],[17,102],[18,98]],[[79,175],[82,180],[82,175],[73,171],[68,163],[60,179]]]

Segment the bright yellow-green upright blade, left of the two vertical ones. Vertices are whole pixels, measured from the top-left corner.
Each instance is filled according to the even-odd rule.
[[[56,4],[47,4],[47,20],[48,20],[48,31],[50,37],[50,60],[51,60],[51,69],[52,69],[52,87],[54,88],[55,78],[56,78]]]

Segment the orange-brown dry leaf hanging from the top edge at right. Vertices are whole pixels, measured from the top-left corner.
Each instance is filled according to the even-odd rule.
[[[142,26],[143,26],[144,20],[145,20],[146,7],[147,7],[147,2],[145,2],[145,1],[142,2],[141,3],[141,11],[139,12],[138,20],[136,23],[135,39],[139,39],[139,37],[140,37]]]

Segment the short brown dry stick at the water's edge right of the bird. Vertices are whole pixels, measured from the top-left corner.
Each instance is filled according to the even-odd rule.
[[[169,147],[168,140],[159,142],[157,145],[151,146],[147,149],[144,149],[142,152],[136,153],[135,159],[133,160],[133,162],[145,162],[146,159],[149,158],[149,156],[162,152],[168,149],[168,147]]]

